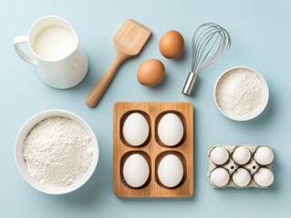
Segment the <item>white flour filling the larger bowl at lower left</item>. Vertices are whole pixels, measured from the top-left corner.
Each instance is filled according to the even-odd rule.
[[[24,159],[29,173],[49,186],[76,182],[92,162],[89,134],[77,122],[65,117],[49,117],[27,134]]]

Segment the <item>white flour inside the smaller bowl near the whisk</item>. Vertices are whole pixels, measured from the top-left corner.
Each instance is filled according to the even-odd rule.
[[[225,115],[247,119],[265,106],[265,84],[251,69],[234,68],[223,74],[217,83],[215,98]]]

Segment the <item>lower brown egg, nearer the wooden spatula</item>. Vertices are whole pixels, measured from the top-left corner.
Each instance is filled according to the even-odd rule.
[[[149,59],[138,69],[138,81],[145,86],[160,84],[165,75],[165,67],[158,59]]]

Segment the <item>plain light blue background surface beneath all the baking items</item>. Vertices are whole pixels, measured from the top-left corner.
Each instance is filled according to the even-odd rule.
[[[290,217],[291,215],[291,4],[285,1],[1,1],[0,94],[0,217]],[[89,58],[81,84],[57,90],[42,83],[36,69],[20,60],[16,35],[26,35],[43,15],[60,15],[73,25]],[[114,57],[112,37],[126,18],[152,30],[137,58],[122,65],[97,108],[84,104],[90,88]],[[181,94],[191,67],[191,39],[205,22],[223,25],[232,35],[227,55],[203,72],[194,96]],[[179,60],[159,52],[161,35],[182,33],[186,51]],[[166,79],[158,87],[141,86],[140,63],[159,58]],[[264,75],[270,100],[264,114],[249,122],[234,122],[213,103],[213,84],[223,70],[247,65]],[[112,192],[112,106],[119,101],[189,101],[194,104],[195,194],[188,199],[120,199]],[[65,109],[83,117],[99,140],[99,165],[92,178],[74,193],[47,195],[34,190],[16,170],[14,142],[22,124],[47,109]],[[207,150],[213,144],[269,144],[275,150],[272,189],[210,187]]]

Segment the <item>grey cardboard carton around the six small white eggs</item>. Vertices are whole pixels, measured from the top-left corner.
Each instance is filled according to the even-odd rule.
[[[244,146],[247,149],[249,149],[250,152],[251,152],[251,160],[248,163],[244,164],[244,165],[239,165],[237,163],[234,163],[234,160],[232,159],[232,154],[234,153],[235,148],[237,148],[239,146]],[[270,186],[267,186],[267,187],[260,186],[257,183],[255,183],[255,180],[254,180],[254,174],[260,168],[263,168],[264,167],[264,168],[267,168],[267,169],[269,169],[269,170],[272,171],[272,163],[262,166],[262,165],[256,163],[255,160],[254,160],[254,158],[253,158],[253,155],[255,154],[256,149],[258,149],[261,146],[265,146],[265,147],[268,147],[268,148],[272,149],[268,145],[223,145],[223,144],[221,144],[221,145],[213,145],[213,146],[210,146],[210,148],[208,150],[208,154],[207,154],[207,156],[208,156],[208,163],[209,163],[207,177],[208,177],[208,181],[211,184],[211,186],[213,188],[229,188],[229,187],[233,187],[233,188],[239,188],[239,189],[250,188],[250,187],[253,187],[253,188],[269,188],[269,187],[271,187],[272,184]],[[213,163],[212,160],[210,159],[210,154],[211,154],[211,152],[213,151],[213,149],[215,147],[223,147],[229,153],[229,159],[223,165],[217,165],[217,164]],[[218,167],[224,168],[230,174],[230,180],[229,180],[229,182],[226,185],[224,185],[223,187],[218,187],[218,186],[214,185],[212,183],[211,179],[210,179],[210,174],[213,172],[213,170],[215,168],[218,168]],[[248,185],[246,185],[244,187],[240,187],[240,186],[237,186],[233,182],[232,176],[233,176],[233,173],[235,172],[235,170],[237,168],[244,168],[244,169],[246,169],[251,174],[251,182]]]

